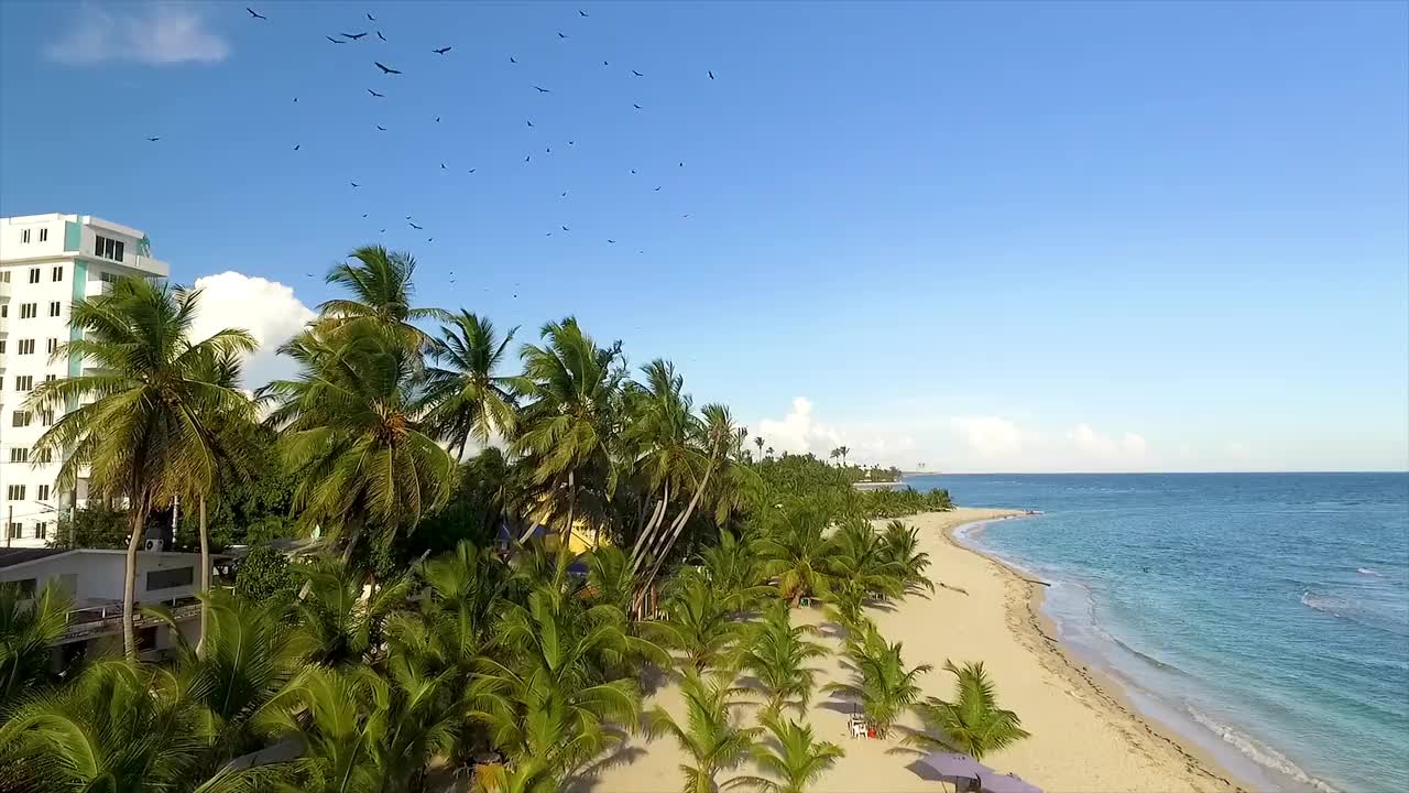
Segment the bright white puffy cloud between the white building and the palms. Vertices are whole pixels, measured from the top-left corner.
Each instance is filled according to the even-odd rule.
[[[197,278],[196,288],[201,295],[200,313],[192,326],[193,339],[242,327],[259,343],[259,350],[245,363],[245,385],[256,388],[292,371],[292,364],[280,360],[275,350],[314,317],[313,309],[294,296],[292,286],[227,271]]]

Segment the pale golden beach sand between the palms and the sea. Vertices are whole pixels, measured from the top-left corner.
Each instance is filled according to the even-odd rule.
[[[986,756],[1000,772],[1017,773],[1048,793],[1060,792],[1199,792],[1230,793],[1241,787],[1199,752],[1155,730],[1120,696],[1119,686],[1068,658],[1037,611],[1044,587],[1026,583],[1007,567],[971,552],[951,539],[964,523],[1016,515],[1002,509],[957,509],[907,518],[920,529],[921,550],[930,555],[934,595],[910,595],[886,610],[871,610],[872,619],[892,642],[905,643],[909,665],[930,663],[926,694],[948,698],[952,676],[944,660],[955,665],[982,660],[998,687],[999,704],[1017,711],[1031,738]],[[941,586],[943,584],[943,586]],[[961,591],[962,590],[962,591]],[[795,619],[824,624],[820,610],[802,608]],[[848,682],[840,641],[821,639],[836,652],[814,665],[819,689],[828,682]],[[675,686],[662,686],[647,707],[662,706],[681,714]],[[841,745],[847,756],[813,787],[817,793],[938,792],[948,785],[921,779],[906,766],[917,753],[895,751],[900,730],[889,739],[847,737],[848,703],[814,694],[807,713],[819,739]],[[792,714],[796,718],[796,714]],[[752,710],[738,717],[754,724]],[[919,727],[913,715],[902,725]],[[685,758],[669,738],[634,737],[616,755],[569,786],[586,793],[666,793],[681,789],[679,763]],[[751,762],[719,776],[724,782],[754,775]]]

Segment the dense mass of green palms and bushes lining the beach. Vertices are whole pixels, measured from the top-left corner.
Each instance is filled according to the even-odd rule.
[[[416,306],[414,271],[379,247],[334,267],[344,296],[255,399],[248,334],[190,339],[199,292],[124,281],[75,305],[63,353],[96,365],[30,402],[77,405],[37,447],[72,452],[61,487],[90,471],[63,542],[128,549],[128,614],[142,532],[178,498],[183,543],[254,547],[232,593],[203,576],[199,634],[155,662],[128,618],[125,653],[55,676],[65,598],[0,590],[0,789],[389,793],[455,773],[548,793],[644,731],[685,749],[686,790],[752,755],[768,777],[726,786],[802,792],[841,756],[782,715],[806,713],[827,652],[793,611],[809,597],[857,670],[826,691],[882,732],[920,701],[927,666],[868,610],[929,588],[929,559],[913,528],[871,521],[948,494],[858,491],[845,449],[841,467],[765,456],[669,361],[633,377],[573,317],[516,371],[516,330]],[[290,533],[317,538],[310,557],[262,543]],[[662,679],[685,710],[643,714],[643,680]],[[986,724],[920,707],[951,745]]]

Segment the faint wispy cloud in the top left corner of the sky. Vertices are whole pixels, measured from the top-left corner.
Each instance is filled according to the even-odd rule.
[[[76,66],[107,61],[213,63],[230,55],[230,44],[206,27],[200,8],[185,3],[120,8],[83,3],[77,20],[45,48],[45,55]]]

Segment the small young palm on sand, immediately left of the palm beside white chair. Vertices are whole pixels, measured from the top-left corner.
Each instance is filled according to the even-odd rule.
[[[816,669],[807,662],[827,655],[827,649],[806,636],[817,635],[812,625],[793,625],[789,608],[775,603],[748,636],[748,649],[740,665],[750,670],[766,697],[765,713],[776,714],[795,704],[800,711],[812,698]]]

